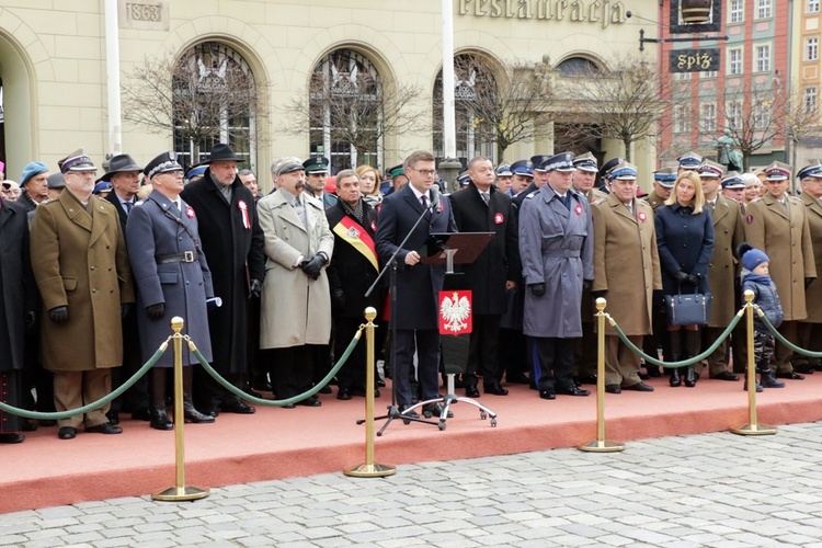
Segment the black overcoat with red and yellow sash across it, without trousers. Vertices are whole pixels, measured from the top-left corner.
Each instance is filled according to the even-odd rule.
[[[326,210],[329,228],[334,233],[334,255],[326,272],[331,289],[331,309],[333,316],[341,318],[363,318],[366,307],[376,308],[379,318],[385,298],[381,285],[368,298],[365,297],[379,275],[379,260],[376,255],[377,212],[362,199],[361,203],[362,225],[345,213],[342,201]],[[376,264],[369,256],[375,259]],[[340,290],[342,295],[339,294]]]

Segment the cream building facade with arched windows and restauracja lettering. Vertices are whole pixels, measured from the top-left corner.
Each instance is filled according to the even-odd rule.
[[[574,75],[558,67],[602,68],[615,56],[639,55],[639,31],[654,30],[649,21],[660,13],[652,0],[631,2],[638,16],[630,16],[626,2],[613,0],[453,0],[450,9],[455,56],[482,59],[486,70],[500,71],[487,81],[504,78],[511,64],[562,80]],[[122,121],[110,119],[106,62],[113,50],[106,45],[112,34],[106,12],[112,11]],[[275,158],[317,151],[332,158],[334,171],[362,163],[385,169],[414,149],[442,148],[436,96],[442,47],[441,2],[433,0],[2,0],[0,159],[14,179],[31,160],[56,169],[57,160],[78,147],[98,164],[119,151],[146,161],[168,149],[193,163],[212,144],[227,140],[247,159],[243,167],[260,173],[267,173]],[[643,55],[658,58],[654,48]],[[162,59],[169,61],[158,67]],[[157,78],[136,78],[152,62]],[[190,69],[190,81],[174,72],[179,66]],[[493,134],[465,110],[460,115],[460,96],[475,91],[476,75],[458,71],[456,80],[461,160],[482,153],[513,161],[552,152],[549,133],[514,142],[498,158]],[[187,111],[156,98],[141,112],[128,98],[147,82],[172,102],[187,104]],[[226,85],[250,87],[254,101],[235,96],[232,104],[208,104]],[[192,96],[199,103],[185,103]],[[221,113],[210,134],[190,132],[208,109]],[[380,122],[401,118],[404,125],[364,130],[374,124],[355,114],[370,111]],[[547,123],[563,114],[553,110]],[[146,123],[152,115],[160,118],[153,127]],[[117,130],[119,141],[112,137]],[[655,145],[632,145],[642,172],[657,167]],[[586,148],[601,158],[626,152],[621,142],[608,139]]]

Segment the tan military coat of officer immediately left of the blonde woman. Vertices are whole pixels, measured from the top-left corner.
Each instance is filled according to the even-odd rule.
[[[609,194],[591,206],[594,220],[594,285],[607,292],[605,309],[627,335],[651,333],[653,290],[662,289],[653,209],[641,201],[628,208]],[[615,334],[606,323],[606,334]]]

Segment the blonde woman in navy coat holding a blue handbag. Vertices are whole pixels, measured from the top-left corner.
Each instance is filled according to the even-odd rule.
[[[662,293],[664,295],[709,293],[708,266],[713,253],[713,222],[705,207],[699,174],[686,171],[674,183],[665,205],[654,218],[657,247],[660,252]],[[671,356],[678,362],[699,354],[699,326],[669,326]],[[671,369],[671,386],[682,385],[681,369]],[[696,372],[689,365],[684,372],[685,386],[696,386]]]

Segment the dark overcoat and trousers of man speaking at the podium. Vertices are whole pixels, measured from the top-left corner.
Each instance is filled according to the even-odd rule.
[[[377,251],[384,263],[397,251],[422,214],[422,203],[413,193],[411,184],[386,196],[379,210],[377,228]],[[418,353],[418,380],[423,399],[436,398],[439,388],[437,297],[445,279],[445,266],[421,263],[408,266],[406,255],[421,250],[431,233],[455,232],[457,226],[450,203],[445,196],[441,196],[436,206],[425,215],[427,219],[424,218],[418,225],[406,247],[397,254],[397,307],[392,312],[397,328],[397,339],[393,341],[393,380],[400,407],[411,403],[408,378],[414,351]]]

